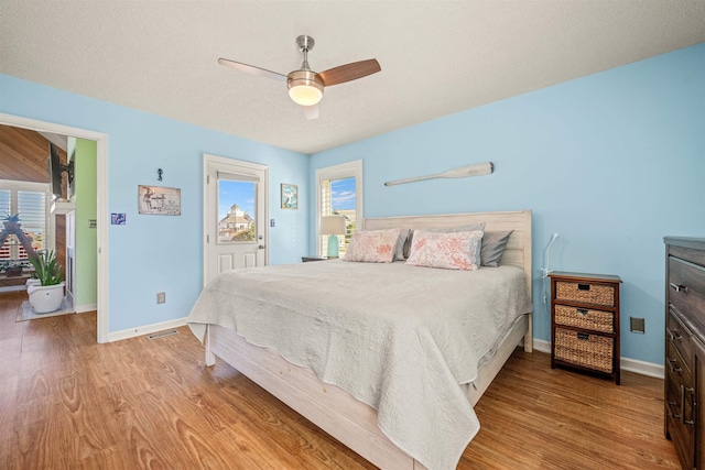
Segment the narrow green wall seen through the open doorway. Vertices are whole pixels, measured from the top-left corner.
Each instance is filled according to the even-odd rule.
[[[74,154],[74,197],[76,200],[76,292],[74,306],[98,303],[98,237],[90,220],[97,218],[97,144],[76,139]],[[95,308],[95,307],[93,307]]]

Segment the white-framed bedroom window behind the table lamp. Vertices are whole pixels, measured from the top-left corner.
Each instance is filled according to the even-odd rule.
[[[344,216],[346,233],[340,237],[340,258],[362,216],[362,161],[316,170],[316,233],[322,216]],[[316,237],[316,252],[323,254],[328,236]]]

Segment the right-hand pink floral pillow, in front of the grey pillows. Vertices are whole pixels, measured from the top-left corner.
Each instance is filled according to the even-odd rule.
[[[477,271],[482,232],[434,233],[416,230],[406,264]]]

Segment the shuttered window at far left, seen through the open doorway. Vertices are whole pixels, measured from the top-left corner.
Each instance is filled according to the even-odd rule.
[[[54,248],[51,225],[48,184],[0,179],[0,217],[20,215],[22,232],[32,240],[34,250]],[[26,260],[28,253],[17,236],[8,237],[0,247],[0,260]]]

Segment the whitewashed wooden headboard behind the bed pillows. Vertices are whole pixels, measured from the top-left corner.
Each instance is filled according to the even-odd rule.
[[[531,296],[531,210],[505,212],[471,212],[433,216],[380,217],[365,219],[365,230],[392,228],[443,229],[485,222],[485,231],[513,230],[502,255],[502,264],[521,267],[527,274],[527,286]]]

